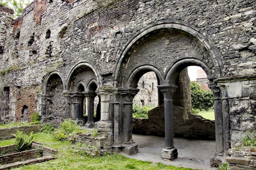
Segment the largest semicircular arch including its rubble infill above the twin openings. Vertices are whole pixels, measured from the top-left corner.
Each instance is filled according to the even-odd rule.
[[[200,29],[185,22],[159,21],[150,24],[132,37],[119,53],[118,64],[113,71],[114,85],[122,86],[129,70],[139,63],[160,65],[157,69],[165,75],[171,63],[187,56],[207,63],[207,67],[214,73],[213,77],[225,72],[221,68],[223,57]]]

